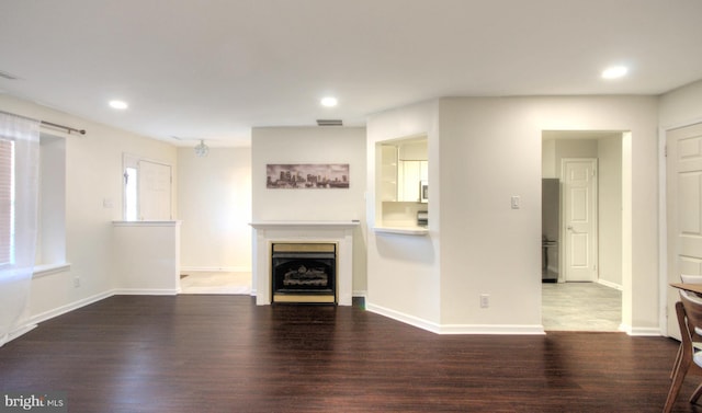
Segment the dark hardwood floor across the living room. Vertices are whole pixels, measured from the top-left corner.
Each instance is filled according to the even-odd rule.
[[[3,391],[70,412],[659,412],[678,342],[435,335],[353,307],[116,296],[0,348]],[[689,377],[676,411],[699,379]]]

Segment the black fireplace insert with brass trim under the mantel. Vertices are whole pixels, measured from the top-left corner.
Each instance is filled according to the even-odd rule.
[[[271,245],[273,302],[337,302],[337,244],[281,242]]]

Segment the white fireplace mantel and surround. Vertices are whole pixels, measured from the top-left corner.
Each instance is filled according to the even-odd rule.
[[[271,303],[271,244],[274,242],[336,242],[337,302],[351,306],[353,292],[353,229],[359,221],[257,221],[253,228],[256,303]]]

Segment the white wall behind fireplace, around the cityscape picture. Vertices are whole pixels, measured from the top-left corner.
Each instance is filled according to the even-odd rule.
[[[349,188],[269,190],[269,163],[348,163]],[[252,221],[365,222],[365,128],[263,127],[251,131]],[[365,294],[365,225],[353,234],[353,290]]]

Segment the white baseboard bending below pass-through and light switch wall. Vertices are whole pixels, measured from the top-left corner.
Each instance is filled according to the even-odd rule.
[[[503,335],[543,335],[544,326],[518,324],[437,324],[414,316],[390,310],[373,303],[365,305],[367,311],[404,322],[405,324],[430,331],[435,334],[503,334]]]

